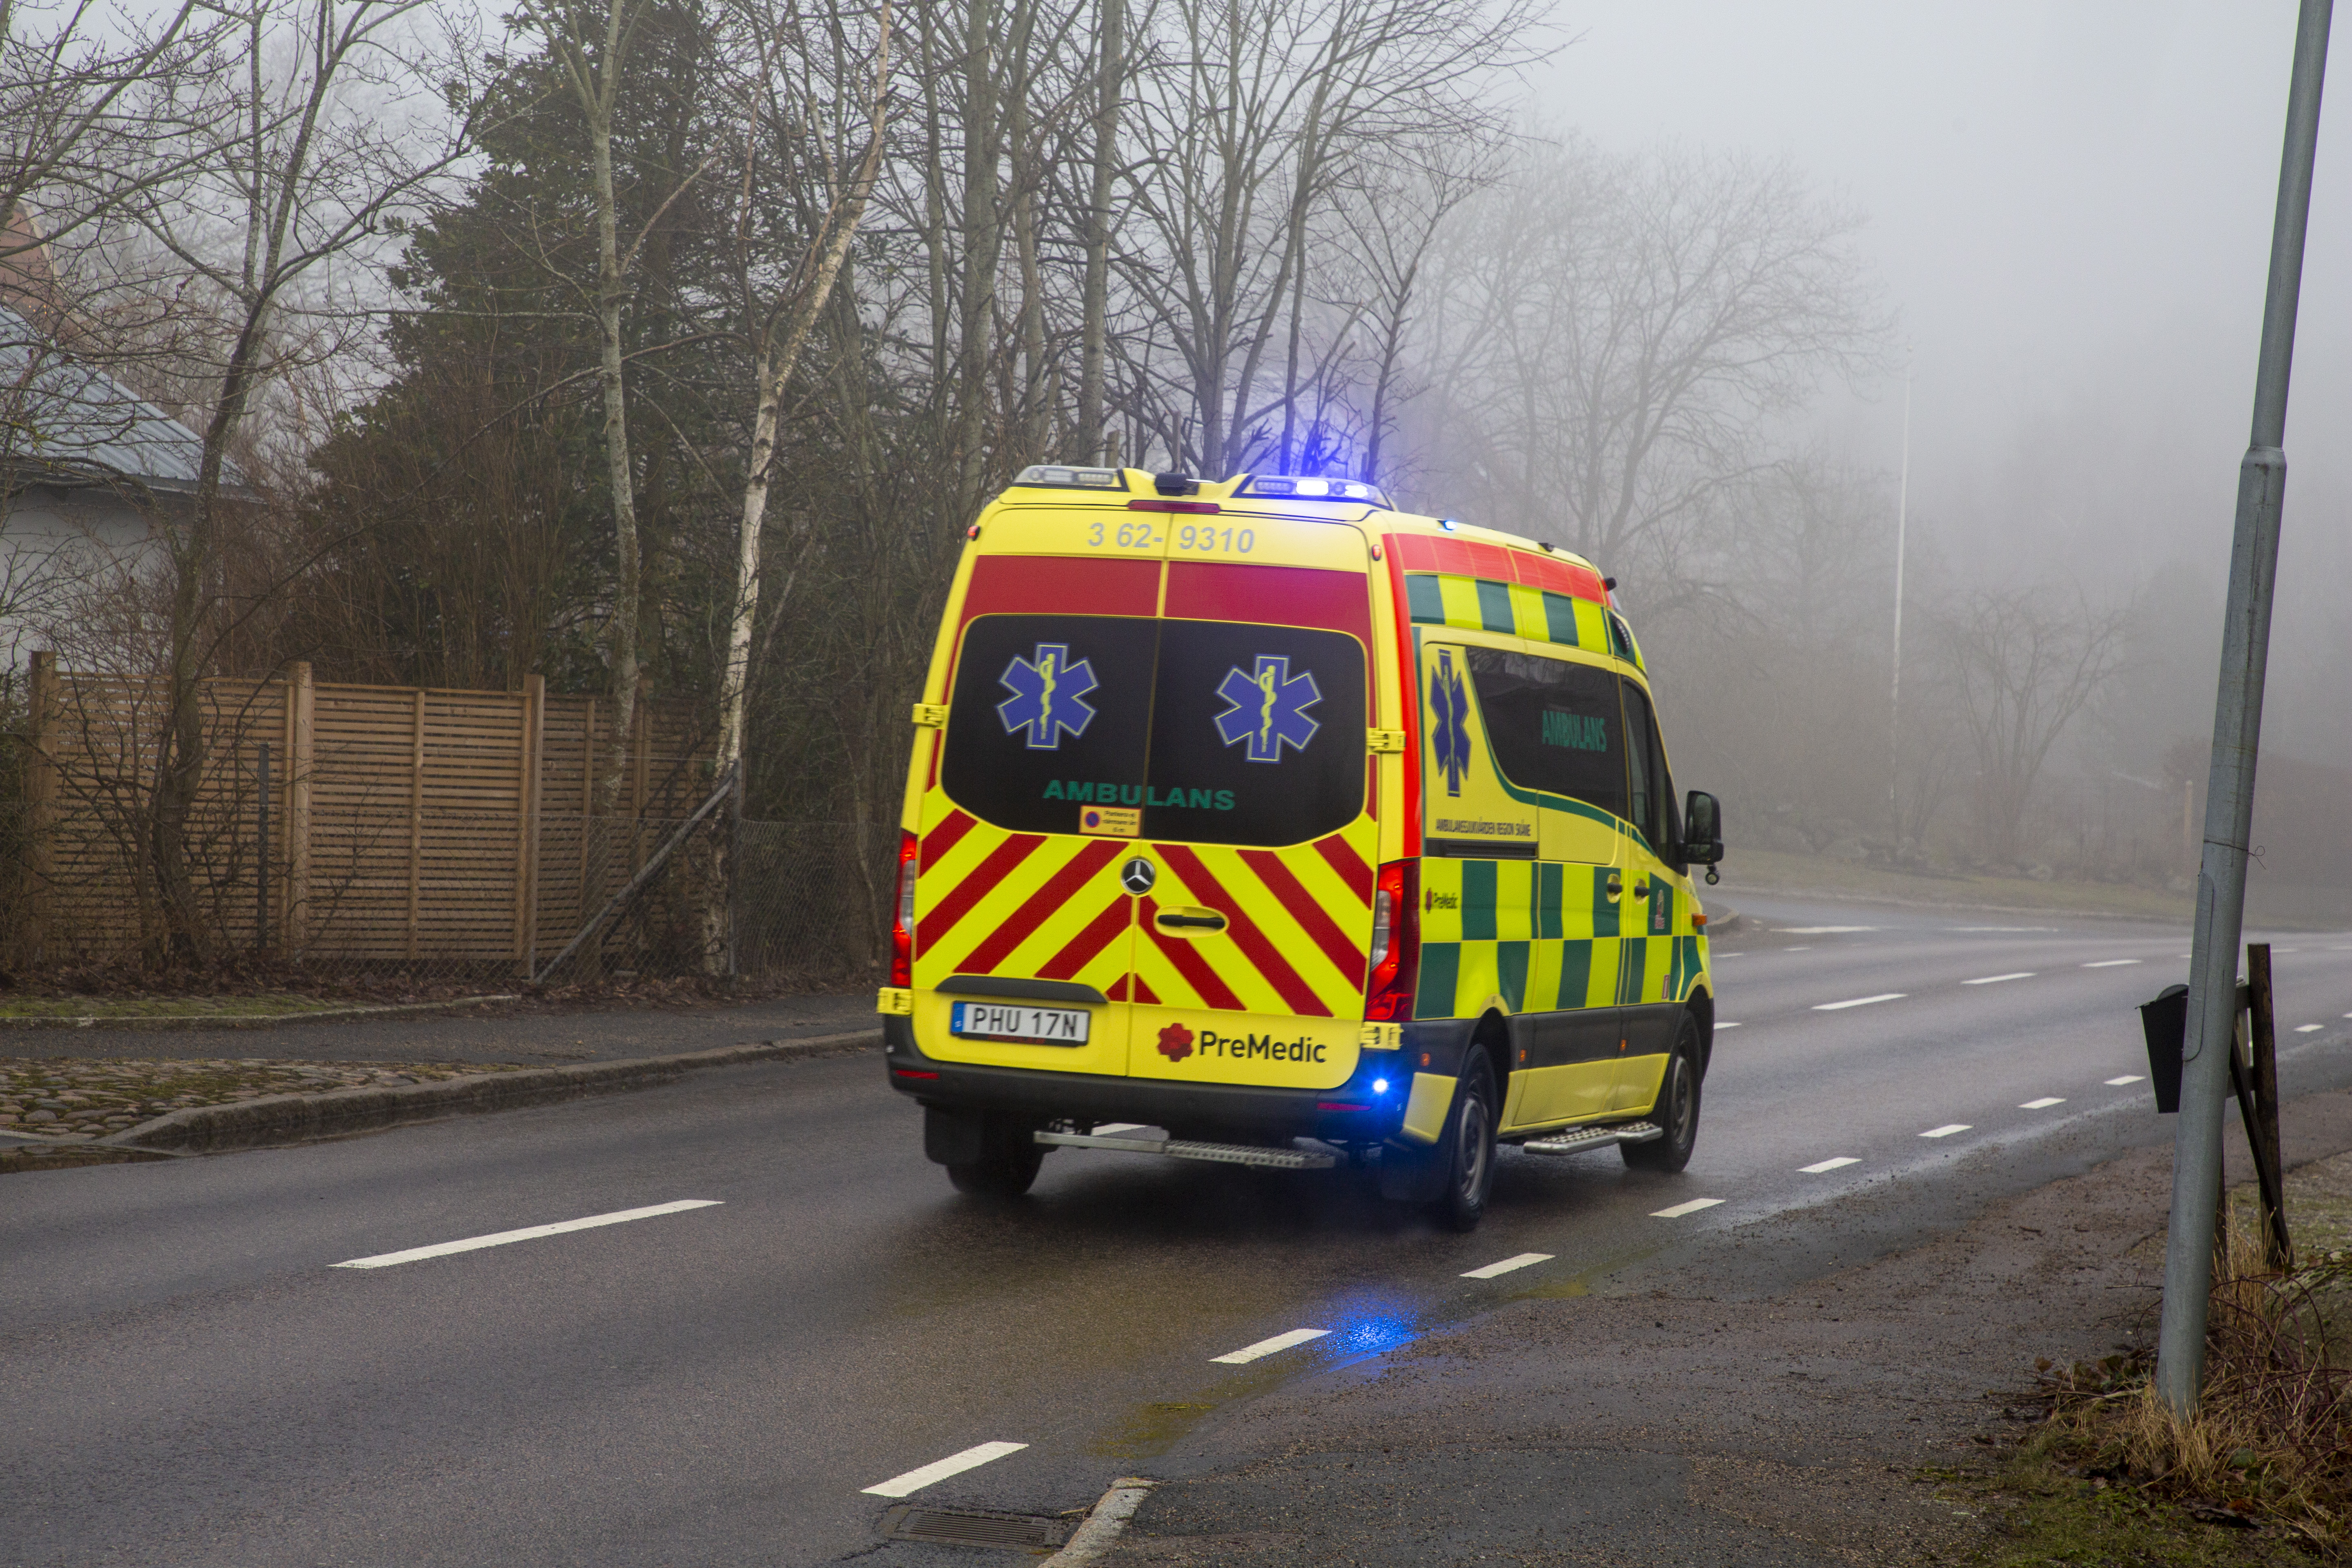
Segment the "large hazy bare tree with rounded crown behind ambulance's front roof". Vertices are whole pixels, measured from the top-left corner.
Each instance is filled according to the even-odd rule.
[[[1437,475],[1484,522],[1639,581],[1771,461],[1773,416],[1875,364],[1858,223],[1785,165],[1534,153],[1442,247]]]

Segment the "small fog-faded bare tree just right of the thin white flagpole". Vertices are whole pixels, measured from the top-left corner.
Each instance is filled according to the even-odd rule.
[[[2117,672],[2126,616],[2093,609],[2079,590],[2067,602],[2051,588],[1980,588],[1936,618],[1976,752],[1978,846],[1994,865],[2018,860],[2034,783],[2058,736]]]

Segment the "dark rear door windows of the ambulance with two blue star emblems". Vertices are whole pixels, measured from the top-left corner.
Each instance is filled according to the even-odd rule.
[[[1016,832],[1138,811],[1143,839],[1315,839],[1364,809],[1364,649],[1294,625],[978,616],[941,785]]]

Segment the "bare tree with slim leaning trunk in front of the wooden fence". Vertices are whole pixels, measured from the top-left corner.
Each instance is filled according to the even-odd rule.
[[[221,597],[223,548],[252,501],[233,451],[289,369],[336,357],[365,327],[358,280],[341,280],[336,263],[362,259],[466,146],[463,106],[449,118],[402,108],[419,92],[440,103],[412,31],[421,5],[214,7],[221,33],[202,68],[134,87],[153,162],[129,172],[78,252],[75,266],[111,273],[127,301],[101,322],[118,369],[167,381],[200,437],[186,505],[155,520],[169,698],[143,813],[143,858],[181,957],[212,957],[188,839],[207,759],[198,682],[252,609]]]

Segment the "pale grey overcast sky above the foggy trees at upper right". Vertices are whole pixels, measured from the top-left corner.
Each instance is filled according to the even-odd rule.
[[[1870,214],[1915,353],[1912,515],[1947,550],[2025,557],[2011,578],[2185,559],[2218,609],[2293,0],[1564,0],[1559,21],[1578,42],[1531,82],[1543,118],[1785,155]],[[2328,87],[2277,625],[2279,719],[2314,752],[2352,745],[2352,75]],[[1870,397],[1828,400],[1823,428],[1893,470],[1900,386]]]

